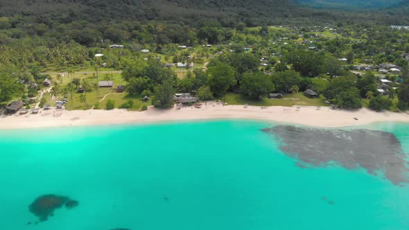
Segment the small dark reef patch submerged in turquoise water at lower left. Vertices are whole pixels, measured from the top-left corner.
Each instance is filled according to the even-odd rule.
[[[67,209],[72,209],[78,206],[78,202],[66,196],[46,194],[37,197],[34,202],[28,206],[28,210],[37,216],[40,222],[44,222],[54,215],[55,209],[60,209],[64,205]]]

